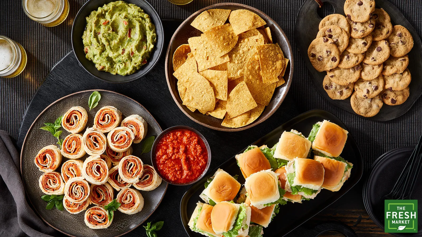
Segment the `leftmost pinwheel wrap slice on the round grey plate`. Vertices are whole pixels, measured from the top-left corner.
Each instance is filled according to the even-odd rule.
[[[38,151],[37,156],[35,156],[34,163],[40,171],[52,172],[57,170],[62,163],[62,154],[57,146],[48,145]]]

